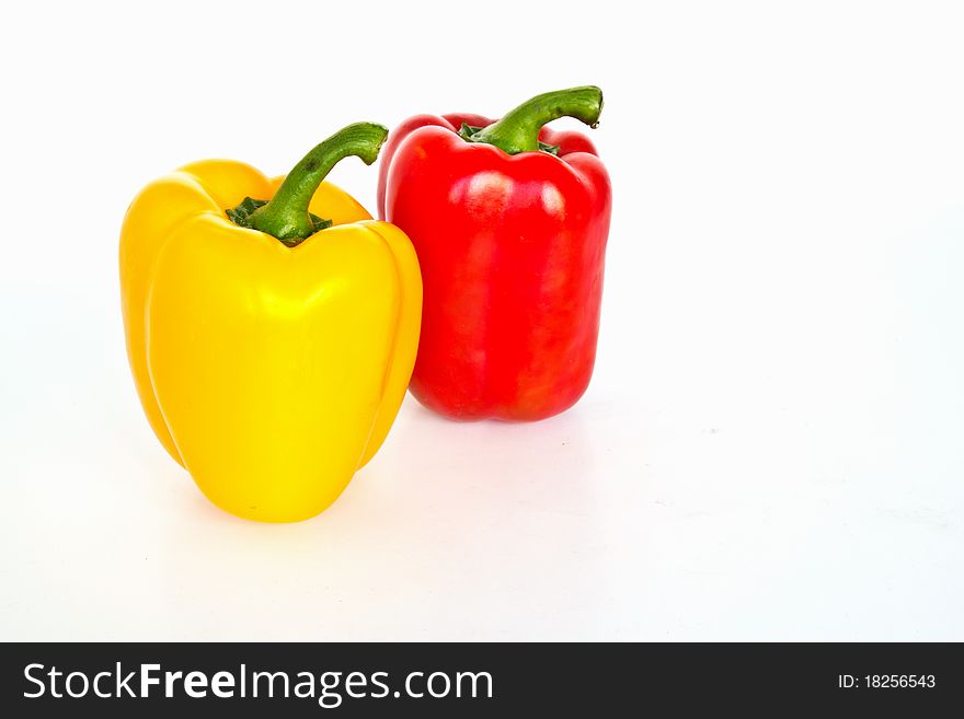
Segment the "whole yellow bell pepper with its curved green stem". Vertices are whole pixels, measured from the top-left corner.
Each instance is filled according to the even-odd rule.
[[[232,514],[292,522],[324,510],[404,397],[422,314],[415,252],[322,182],[342,158],[371,164],[386,136],[352,125],[287,178],[226,160],[186,165],[127,211],[120,292],[141,405]]]

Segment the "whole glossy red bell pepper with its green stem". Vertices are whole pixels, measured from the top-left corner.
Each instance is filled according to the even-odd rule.
[[[412,394],[454,419],[537,420],[589,384],[611,187],[593,143],[598,88],[533,97],[498,121],[418,115],[382,152],[378,211],[422,267]]]

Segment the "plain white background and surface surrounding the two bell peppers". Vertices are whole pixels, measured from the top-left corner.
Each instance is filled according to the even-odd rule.
[[[0,638],[964,639],[964,21],[723,4],[4,10]],[[208,505],[127,369],[139,187],[585,83],[616,209],[583,401],[409,398],[321,517]],[[332,179],[374,209],[375,169]]]

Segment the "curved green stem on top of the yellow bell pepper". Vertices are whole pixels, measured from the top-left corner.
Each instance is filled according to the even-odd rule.
[[[297,245],[318,229],[318,218],[312,219],[308,205],[331,169],[351,155],[370,165],[387,137],[388,130],[374,123],[355,123],[338,130],[295,165],[274,198],[251,212],[244,227]]]

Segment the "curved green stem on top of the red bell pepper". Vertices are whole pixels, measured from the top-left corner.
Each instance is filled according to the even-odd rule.
[[[547,123],[560,117],[575,117],[596,127],[602,112],[602,91],[595,85],[570,88],[536,95],[497,123],[478,132],[462,134],[470,142],[494,144],[508,154],[539,150],[539,131]]]

